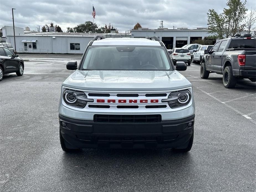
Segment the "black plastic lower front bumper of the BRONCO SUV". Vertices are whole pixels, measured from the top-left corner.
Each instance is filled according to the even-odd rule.
[[[70,149],[178,148],[183,145],[185,148],[193,133],[195,115],[159,123],[95,123],[59,117],[61,135]]]

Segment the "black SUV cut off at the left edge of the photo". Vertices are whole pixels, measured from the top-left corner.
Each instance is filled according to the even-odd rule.
[[[6,47],[0,46],[0,81],[2,81],[4,74],[15,72],[17,76],[22,76],[23,71],[23,59]]]

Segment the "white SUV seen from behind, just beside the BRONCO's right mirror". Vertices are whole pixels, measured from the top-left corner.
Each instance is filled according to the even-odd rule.
[[[176,64],[177,61],[183,61],[188,65],[191,64],[191,57],[187,48],[175,48],[170,56],[173,64]]]

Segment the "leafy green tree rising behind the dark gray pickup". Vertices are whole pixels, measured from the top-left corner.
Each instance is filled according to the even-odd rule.
[[[240,33],[244,28],[241,22],[245,18],[245,2],[241,0],[228,0],[227,8],[223,9],[223,13],[218,14],[214,9],[209,9],[207,13],[208,26],[211,32],[216,33],[220,39],[234,36]]]

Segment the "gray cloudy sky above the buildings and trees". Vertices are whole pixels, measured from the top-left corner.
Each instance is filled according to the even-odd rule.
[[[243,1],[243,0],[242,0]],[[255,0],[247,0],[246,7],[256,9]],[[208,9],[222,12],[226,0],[0,0],[0,27],[12,26],[12,8],[15,26],[37,30],[53,22],[63,31],[85,21],[92,21],[92,4],[96,10],[94,22],[101,26],[111,23],[119,32],[142,27],[207,27]],[[42,28],[42,27],[40,27]]]

